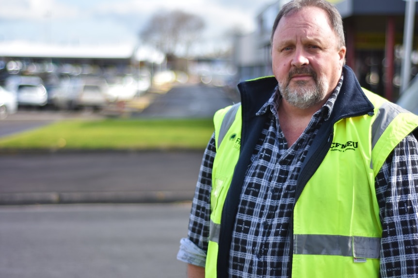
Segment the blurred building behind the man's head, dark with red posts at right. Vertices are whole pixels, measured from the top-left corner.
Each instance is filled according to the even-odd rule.
[[[278,0],[257,16],[254,33],[237,36],[234,63],[237,81],[271,75],[270,35],[274,18],[289,0]],[[405,0],[329,0],[343,17],[346,34],[346,63],[360,85],[391,101],[399,97]],[[417,49],[417,20],[414,21]],[[418,73],[418,50],[412,52],[411,76]]]

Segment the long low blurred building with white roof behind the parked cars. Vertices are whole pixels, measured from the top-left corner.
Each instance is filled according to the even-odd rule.
[[[146,67],[159,70],[165,55],[132,45],[71,46],[25,42],[0,43],[0,84],[13,74],[39,75],[134,75]],[[46,83],[53,80],[44,80]]]

